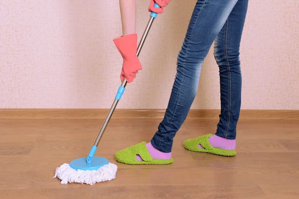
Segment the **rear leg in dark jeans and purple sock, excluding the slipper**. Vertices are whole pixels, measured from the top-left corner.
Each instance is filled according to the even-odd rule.
[[[217,35],[214,57],[219,66],[221,114],[215,135],[209,137],[212,147],[236,148],[236,128],[241,108],[240,42],[247,13],[248,0],[238,0]],[[203,148],[200,144],[199,148]]]

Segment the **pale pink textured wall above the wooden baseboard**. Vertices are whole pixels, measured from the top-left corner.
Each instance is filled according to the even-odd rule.
[[[149,0],[138,0],[139,38]],[[120,85],[119,1],[0,3],[0,108],[109,108]],[[144,70],[118,108],[166,108],[196,0],[172,0],[140,55]],[[299,109],[299,1],[250,0],[241,44],[243,109]],[[219,108],[212,48],[192,108]]]

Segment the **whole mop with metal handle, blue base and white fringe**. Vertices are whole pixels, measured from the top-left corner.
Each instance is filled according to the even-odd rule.
[[[154,4],[155,7],[159,8],[157,3]],[[153,20],[156,18],[157,13],[151,12],[148,26],[142,36],[142,39],[139,43],[137,49],[137,56],[139,56],[140,51],[144,45],[144,42],[149,33],[149,29]],[[106,127],[110,121],[110,118],[119,102],[121,100],[122,95],[125,92],[125,88],[127,85],[126,78],[123,79],[121,86],[119,87],[115,100],[112,104],[112,107],[104,121],[104,124],[98,134],[98,137],[91,147],[91,150],[87,157],[82,157],[75,159],[70,162],[70,164],[63,164],[60,167],[56,168],[55,176],[53,178],[58,178],[61,180],[61,184],[66,185],[67,183],[79,183],[79,184],[87,184],[94,185],[95,183],[111,181],[116,178],[117,166],[113,163],[110,163],[108,159],[103,157],[94,156],[99,145],[99,142],[106,130]]]

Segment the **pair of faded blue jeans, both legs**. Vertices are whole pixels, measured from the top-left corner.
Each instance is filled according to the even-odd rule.
[[[215,41],[219,66],[221,114],[216,135],[236,139],[241,108],[240,41],[248,0],[197,0],[177,57],[177,73],[163,120],[151,139],[162,152],[171,152],[197,93],[204,58]]]

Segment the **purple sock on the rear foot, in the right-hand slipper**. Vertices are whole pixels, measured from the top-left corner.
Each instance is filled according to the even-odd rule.
[[[209,137],[210,144],[215,148],[221,148],[225,150],[235,150],[236,149],[236,140],[230,140],[223,137],[219,137],[218,135],[212,135]],[[199,148],[203,148],[200,144],[198,144]]]

